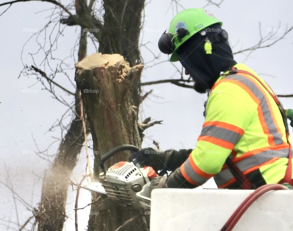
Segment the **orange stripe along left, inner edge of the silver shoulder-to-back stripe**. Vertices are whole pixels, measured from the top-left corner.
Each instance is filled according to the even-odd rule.
[[[273,139],[273,135],[269,133],[269,128],[268,125],[266,124],[266,120],[264,118],[263,112],[262,112],[262,107],[260,106],[260,100],[255,96],[255,94],[251,91],[250,88],[248,88],[246,85],[244,85],[243,83],[241,83],[240,81],[234,80],[234,79],[222,79],[219,82],[230,82],[233,83],[235,85],[238,85],[239,87],[241,87],[244,91],[246,91],[249,96],[253,99],[253,101],[258,105],[257,108],[257,112],[258,112],[258,117],[259,117],[259,122],[262,126],[262,130],[263,132],[268,136],[268,142],[270,145],[274,145],[274,139]]]

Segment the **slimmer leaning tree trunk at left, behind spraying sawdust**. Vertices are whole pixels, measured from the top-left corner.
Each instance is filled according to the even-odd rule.
[[[87,39],[86,33],[81,28],[78,60],[86,56]],[[54,159],[49,173],[44,178],[41,202],[39,203],[38,221],[39,231],[57,231],[63,229],[66,219],[66,201],[69,179],[72,170],[76,166],[77,156],[81,152],[85,141],[80,117],[79,89],[75,93],[76,116],[71,122],[70,128],[61,141],[58,153]]]

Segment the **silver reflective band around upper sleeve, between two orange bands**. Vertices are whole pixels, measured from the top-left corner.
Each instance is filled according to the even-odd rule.
[[[201,136],[202,135],[222,139],[233,144],[236,144],[241,138],[241,135],[239,135],[237,132],[233,132],[226,128],[220,128],[217,126],[205,126],[201,131]]]

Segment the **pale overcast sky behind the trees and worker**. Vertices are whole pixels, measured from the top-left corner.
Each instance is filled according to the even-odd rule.
[[[63,1],[62,1],[63,2]],[[196,2],[196,3],[195,3]],[[205,5],[207,1],[185,0],[180,3],[185,8],[197,8]],[[157,41],[161,34],[169,27],[170,20],[176,13],[176,9],[169,7],[171,1],[152,1],[145,10],[145,25],[141,34],[141,43],[147,44],[148,48],[156,55],[160,53],[157,48]],[[174,4],[173,4],[174,6]],[[67,110],[66,106],[52,99],[51,95],[42,90],[40,83],[36,84],[34,77],[21,76],[23,63],[21,52],[24,44],[35,31],[41,30],[48,22],[49,11],[42,11],[51,8],[52,5],[44,2],[18,3],[0,17],[0,76],[2,80],[1,104],[0,104],[0,126],[1,126],[1,150],[0,156],[0,181],[10,186],[32,207],[40,200],[44,169],[49,167],[49,162],[39,158],[34,152],[37,148],[34,139],[40,150],[46,149],[56,139],[60,138],[60,130],[54,129],[48,132],[49,128],[60,119]],[[5,10],[0,8],[0,14]],[[276,36],[281,36],[286,27],[292,26],[293,3],[289,0],[282,1],[232,1],[225,0],[221,7],[208,6],[215,16],[223,22],[223,28],[228,31],[230,43],[235,46],[233,51],[249,48],[259,42],[259,23],[261,23],[262,34],[265,36],[270,31],[276,31]],[[182,10],[181,7],[178,10]],[[42,11],[42,12],[40,12]],[[37,13],[40,12],[40,13]],[[279,28],[280,23],[280,28]],[[56,57],[65,58],[67,63],[74,65],[71,58],[72,48],[78,38],[79,28],[67,27],[58,43],[55,52]],[[292,94],[292,44],[293,32],[289,33],[283,40],[270,48],[259,49],[253,52],[248,58],[245,54],[235,56],[239,63],[245,60],[245,64],[261,73],[262,77],[275,90],[277,94]],[[78,47],[76,48],[78,49]],[[32,59],[29,53],[37,51],[35,39],[32,39],[23,51],[24,64],[31,65]],[[95,50],[91,45],[88,55]],[[144,62],[153,59],[153,55],[146,48],[141,49]],[[41,65],[40,59],[35,60]],[[75,58],[76,58],[75,52]],[[155,63],[167,60],[168,56],[161,54],[160,59]],[[148,63],[151,66],[154,63]],[[176,64],[180,68],[180,63]],[[161,63],[157,66],[147,68],[143,72],[142,82],[171,78],[176,70],[170,63]],[[74,71],[68,70],[67,74],[74,81]],[[180,78],[176,74],[172,78]],[[55,79],[67,89],[74,91],[64,75],[58,75]],[[31,87],[30,87],[31,86]],[[151,95],[141,106],[140,118],[152,117],[155,120],[163,120],[163,125],[156,125],[146,131],[146,139],[143,146],[153,146],[155,139],[160,143],[162,150],[174,148],[194,148],[197,137],[201,132],[204,121],[204,101],[207,96],[198,94],[192,89],[180,88],[171,84],[153,85],[143,88],[144,91],[154,89]],[[56,88],[58,95],[72,101],[72,97]],[[293,99],[281,99],[285,108],[293,108]],[[68,124],[71,118],[64,123]],[[34,138],[34,139],[33,139]],[[48,153],[56,154],[59,143],[50,147]],[[79,157],[79,164],[74,170],[75,176],[80,176],[85,166],[85,153]],[[93,162],[92,162],[93,163]],[[210,182],[208,187],[215,185]],[[73,215],[75,192],[69,193],[68,212]],[[82,191],[82,199],[79,206],[83,207],[89,203],[89,193]],[[0,230],[7,230],[6,226],[11,221],[9,230],[17,227],[16,208],[19,221],[22,224],[31,215],[29,211],[16,200],[13,194],[5,187],[0,187]],[[80,211],[80,229],[85,229],[88,220],[89,208]],[[74,217],[71,216],[66,222],[67,230],[74,228]],[[5,222],[5,221],[6,222]],[[13,224],[16,223],[16,224]]]

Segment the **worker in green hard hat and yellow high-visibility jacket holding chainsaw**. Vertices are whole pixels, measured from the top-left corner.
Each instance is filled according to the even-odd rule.
[[[152,179],[151,189],[195,188],[212,177],[227,189],[292,185],[288,111],[261,77],[233,59],[222,22],[205,9],[183,10],[158,45],[208,100],[195,149],[145,148],[135,154],[143,166],[172,171]]]

